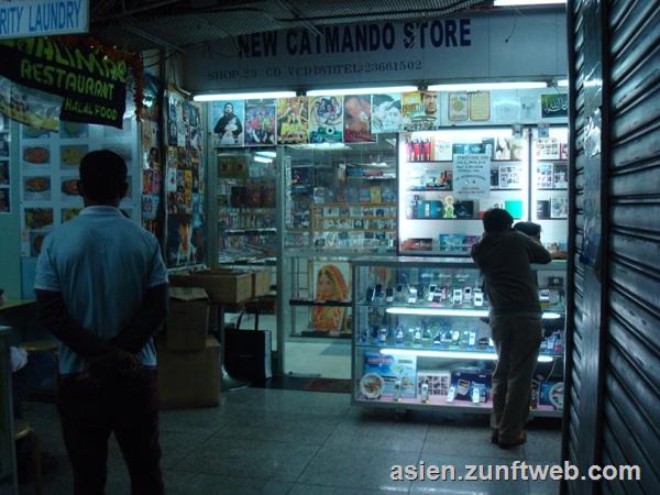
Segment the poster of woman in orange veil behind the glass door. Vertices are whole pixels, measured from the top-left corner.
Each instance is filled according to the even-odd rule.
[[[348,300],[349,298],[349,264],[327,263],[315,264],[315,299]],[[345,333],[346,308],[337,306],[315,306],[311,315],[311,329],[317,332],[327,332],[330,336]]]

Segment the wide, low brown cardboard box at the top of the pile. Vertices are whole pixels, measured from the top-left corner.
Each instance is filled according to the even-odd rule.
[[[173,287],[201,287],[211,304],[242,302],[252,298],[252,274],[240,270],[200,270],[169,277]]]

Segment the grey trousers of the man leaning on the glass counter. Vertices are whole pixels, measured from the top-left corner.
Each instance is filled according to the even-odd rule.
[[[541,317],[491,317],[491,332],[497,352],[491,426],[499,430],[499,441],[507,443],[520,436],[527,422],[531,378],[542,339]]]

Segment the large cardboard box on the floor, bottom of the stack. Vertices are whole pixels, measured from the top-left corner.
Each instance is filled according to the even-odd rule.
[[[208,337],[201,351],[177,352],[158,339],[161,407],[212,407],[220,402],[220,343]]]

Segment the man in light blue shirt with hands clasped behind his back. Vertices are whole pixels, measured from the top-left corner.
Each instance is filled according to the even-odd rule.
[[[40,321],[59,341],[57,406],[76,495],[103,494],[114,432],[134,495],[163,494],[156,353],[167,274],[156,239],[118,209],[127,165],[110,151],[80,163],[80,215],[44,241]]]

